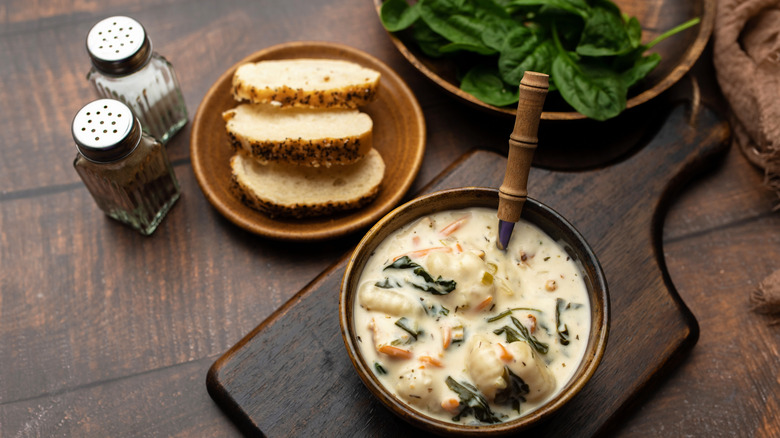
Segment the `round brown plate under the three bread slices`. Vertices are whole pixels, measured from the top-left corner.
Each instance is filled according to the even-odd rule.
[[[374,148],[385,161],[377,199],[359,210],[311,219],[272,219],[242,204],[230,192],[228,160],[233,150],[222,112],[237,105],[230,87],[239,65],[269,59],[329,58],[352,61],[382,74],[377,99],[362,107],[374,121]],[[291,42],[254,53],[226,71],[203,98],[192,123],[192,169],[206,199],[239,227],[281,240],[321,240],[372,225],[411,187],[425,151],[422,109],[406,83],[387,65],[357,49],[326,42]]]

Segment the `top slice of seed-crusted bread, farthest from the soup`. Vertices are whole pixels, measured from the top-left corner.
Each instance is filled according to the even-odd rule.
[[[379,88],[378,71],[335,59],[247,63],[233,75],[233,97],[279,107],[357,108]]]

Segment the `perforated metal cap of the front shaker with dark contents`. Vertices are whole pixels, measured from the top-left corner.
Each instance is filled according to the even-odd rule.
[[[130,154],[141,140],[141,124],[130,108],[114,99],[84,105],[73,118],[73,140],[88,160],[107,163]]]

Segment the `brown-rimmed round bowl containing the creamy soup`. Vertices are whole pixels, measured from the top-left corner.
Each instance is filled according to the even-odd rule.
[[[371,371],[371,364],[367,363],[360,354],[356,339],[353,306],[360,275],[371,253],[390,233],[417,218],[437,211],[468,207],[498,208],[498,190],[469,187],[435,192],[396,208],[368,231],[353,252],[341,283],[339,296],[341,335],[352,364],[363,383],[388,409],[413,426],[441,435],[506,435],[549,418],[574,397],[593,376],[607,344],[609,294],[599,261],[582,235],[549,207],[528,198],[522,217],[559,242],[572,259],[580,263],[590,297],[591,329],[585,355],[577,371],[561,392],[543,406],[518,419],[493,425],[467,426],[429,417],[409,407],[382,385]]]

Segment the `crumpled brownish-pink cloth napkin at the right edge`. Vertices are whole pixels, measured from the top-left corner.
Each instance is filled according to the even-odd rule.
[[[780,196],[780,0],[718,0],[713,41],[733,141],[764,169],[764,184]],[[780,270],[750,301],[756,312],[780,315]]]

